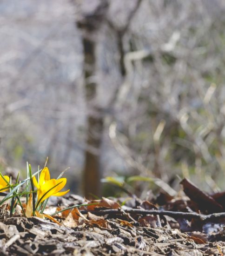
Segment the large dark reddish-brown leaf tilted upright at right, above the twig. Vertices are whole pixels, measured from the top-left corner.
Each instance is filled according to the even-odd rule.
[[[209,213],[222,212],[223,207],[216,202],[212,196],[205,194],[198,189],[192,182],[183,179],[180,184],[183,185],[185,194],[199,206],[199,209],[207,210]]]

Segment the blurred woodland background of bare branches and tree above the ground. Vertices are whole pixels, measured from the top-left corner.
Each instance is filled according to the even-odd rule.
[[[2,0],[0,22],[3,172],[48,156],[85,195],[225,189],[223,0]]]

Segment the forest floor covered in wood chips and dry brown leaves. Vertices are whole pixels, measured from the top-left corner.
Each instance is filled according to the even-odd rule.
[[[55,215],[55,222],[8,217],[2,206],[0,255],[223,256],[225,193],[207,195],[187,180],[183,187],[182,196],[161,193],[152,202],[103,197]],[[56,198],[46,213],[82,203],[88,202],[78,195]]]

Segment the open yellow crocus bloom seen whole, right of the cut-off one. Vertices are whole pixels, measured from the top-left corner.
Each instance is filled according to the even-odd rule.
[[[41,197],[43,195],[45,195],[45,193],[49,189],[51,189],[51,190],[45,196],[43,196],[43,198],[41,199],[40,202],[45,201],[51,195],[53,195],[53,196],[62,196],[62,195],[65,195],[66,193],[68,193],[70,191],[68,189],[66,191],[59,192],[61,189],[63,189],[65,187],[65,185],[66,185],[66,178],[60,178],[58,180],[50,179],[50,174],[49,174],[49,170],[48,170],[47,167],[45,167],[41,171],[39,183],[37,182],[37,179],[35,177],[33,177],[33,184],[38,189],[38,191],[37,191],[38,202],[41,199]],[[59,185],[56,186],[57,184],[59,184]],[[54,186],[56,186],[56,187],[53,188]]]

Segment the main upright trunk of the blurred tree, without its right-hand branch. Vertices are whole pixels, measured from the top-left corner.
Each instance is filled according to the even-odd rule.
[[[83,171],[84,194],[99,195],[100,192],[100,168],[99,151],[103,134],[103,113],[99,108],[96,98],[97,82],[95,72],[97,69],[96,45],[99,40],[101,25],[106,19],[108,3],[106,0],[75,1],[79,10],[76,20],[77,27],[82,33],[84,54],[84,83],[86,91],[87,108],[87,134],[85,166]]]

